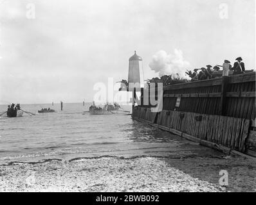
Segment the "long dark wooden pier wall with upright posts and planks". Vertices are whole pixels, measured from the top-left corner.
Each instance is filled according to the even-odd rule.
[[[202,145],[256,157],[255,72],[163,90],[163,110],[152,113],[151,106],[142,103],[134,108],[134,119]]]

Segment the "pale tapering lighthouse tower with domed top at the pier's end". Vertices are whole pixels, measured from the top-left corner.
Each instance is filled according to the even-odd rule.
[[[144,85],[143,77],[142,57],[134,51],[134,55],[129,58],[129,91],[134,91],[134,88],[142,88]]]

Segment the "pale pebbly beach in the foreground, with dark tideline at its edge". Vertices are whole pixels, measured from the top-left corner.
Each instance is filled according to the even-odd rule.
[[[228,171],[228,186],[219,171]],[[236,156],[100,157],[0,166],[1,192],[255,192],[256,166]]]

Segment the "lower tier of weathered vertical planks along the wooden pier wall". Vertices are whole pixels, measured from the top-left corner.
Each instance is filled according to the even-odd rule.
[[[183,118],[181,113],[184,115]],[[150,108],[134,109],[134,117],[138,116],[138,119],[151,124],[154,115],[156,113],[152,113]],[[250,125],[255,126],[255,120],[250,122],[248,119],[219,115],[202,115],[201,120],[196,120],[200,115],[200,113],[163,110],[158,113],[156,122],[161,129],[179,136],[192,136],[199,141],[207,140],[239,152],[255,151],[251,148],[251,144],[256,143],[256,131],[250,131]],[[250,149],[247,149],[246,143],[250,143]]]

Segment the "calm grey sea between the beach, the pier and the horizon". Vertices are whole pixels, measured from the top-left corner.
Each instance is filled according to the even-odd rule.
[[[56,158],[78,156],[109,156],[120,153],[144,155],[157,149],[158,153],[176,147],[179,137],[158,131],[131,119],[131,116],[82,115],[90,104],[21,104],[21,109],[35,113],[30,117],[0,117],[0,163],[26,158]],[[52,108],[56,113],[38,113]],[[131,110],[130,106],[123,106]],[[1,105],[0,111],[6,106]]]

